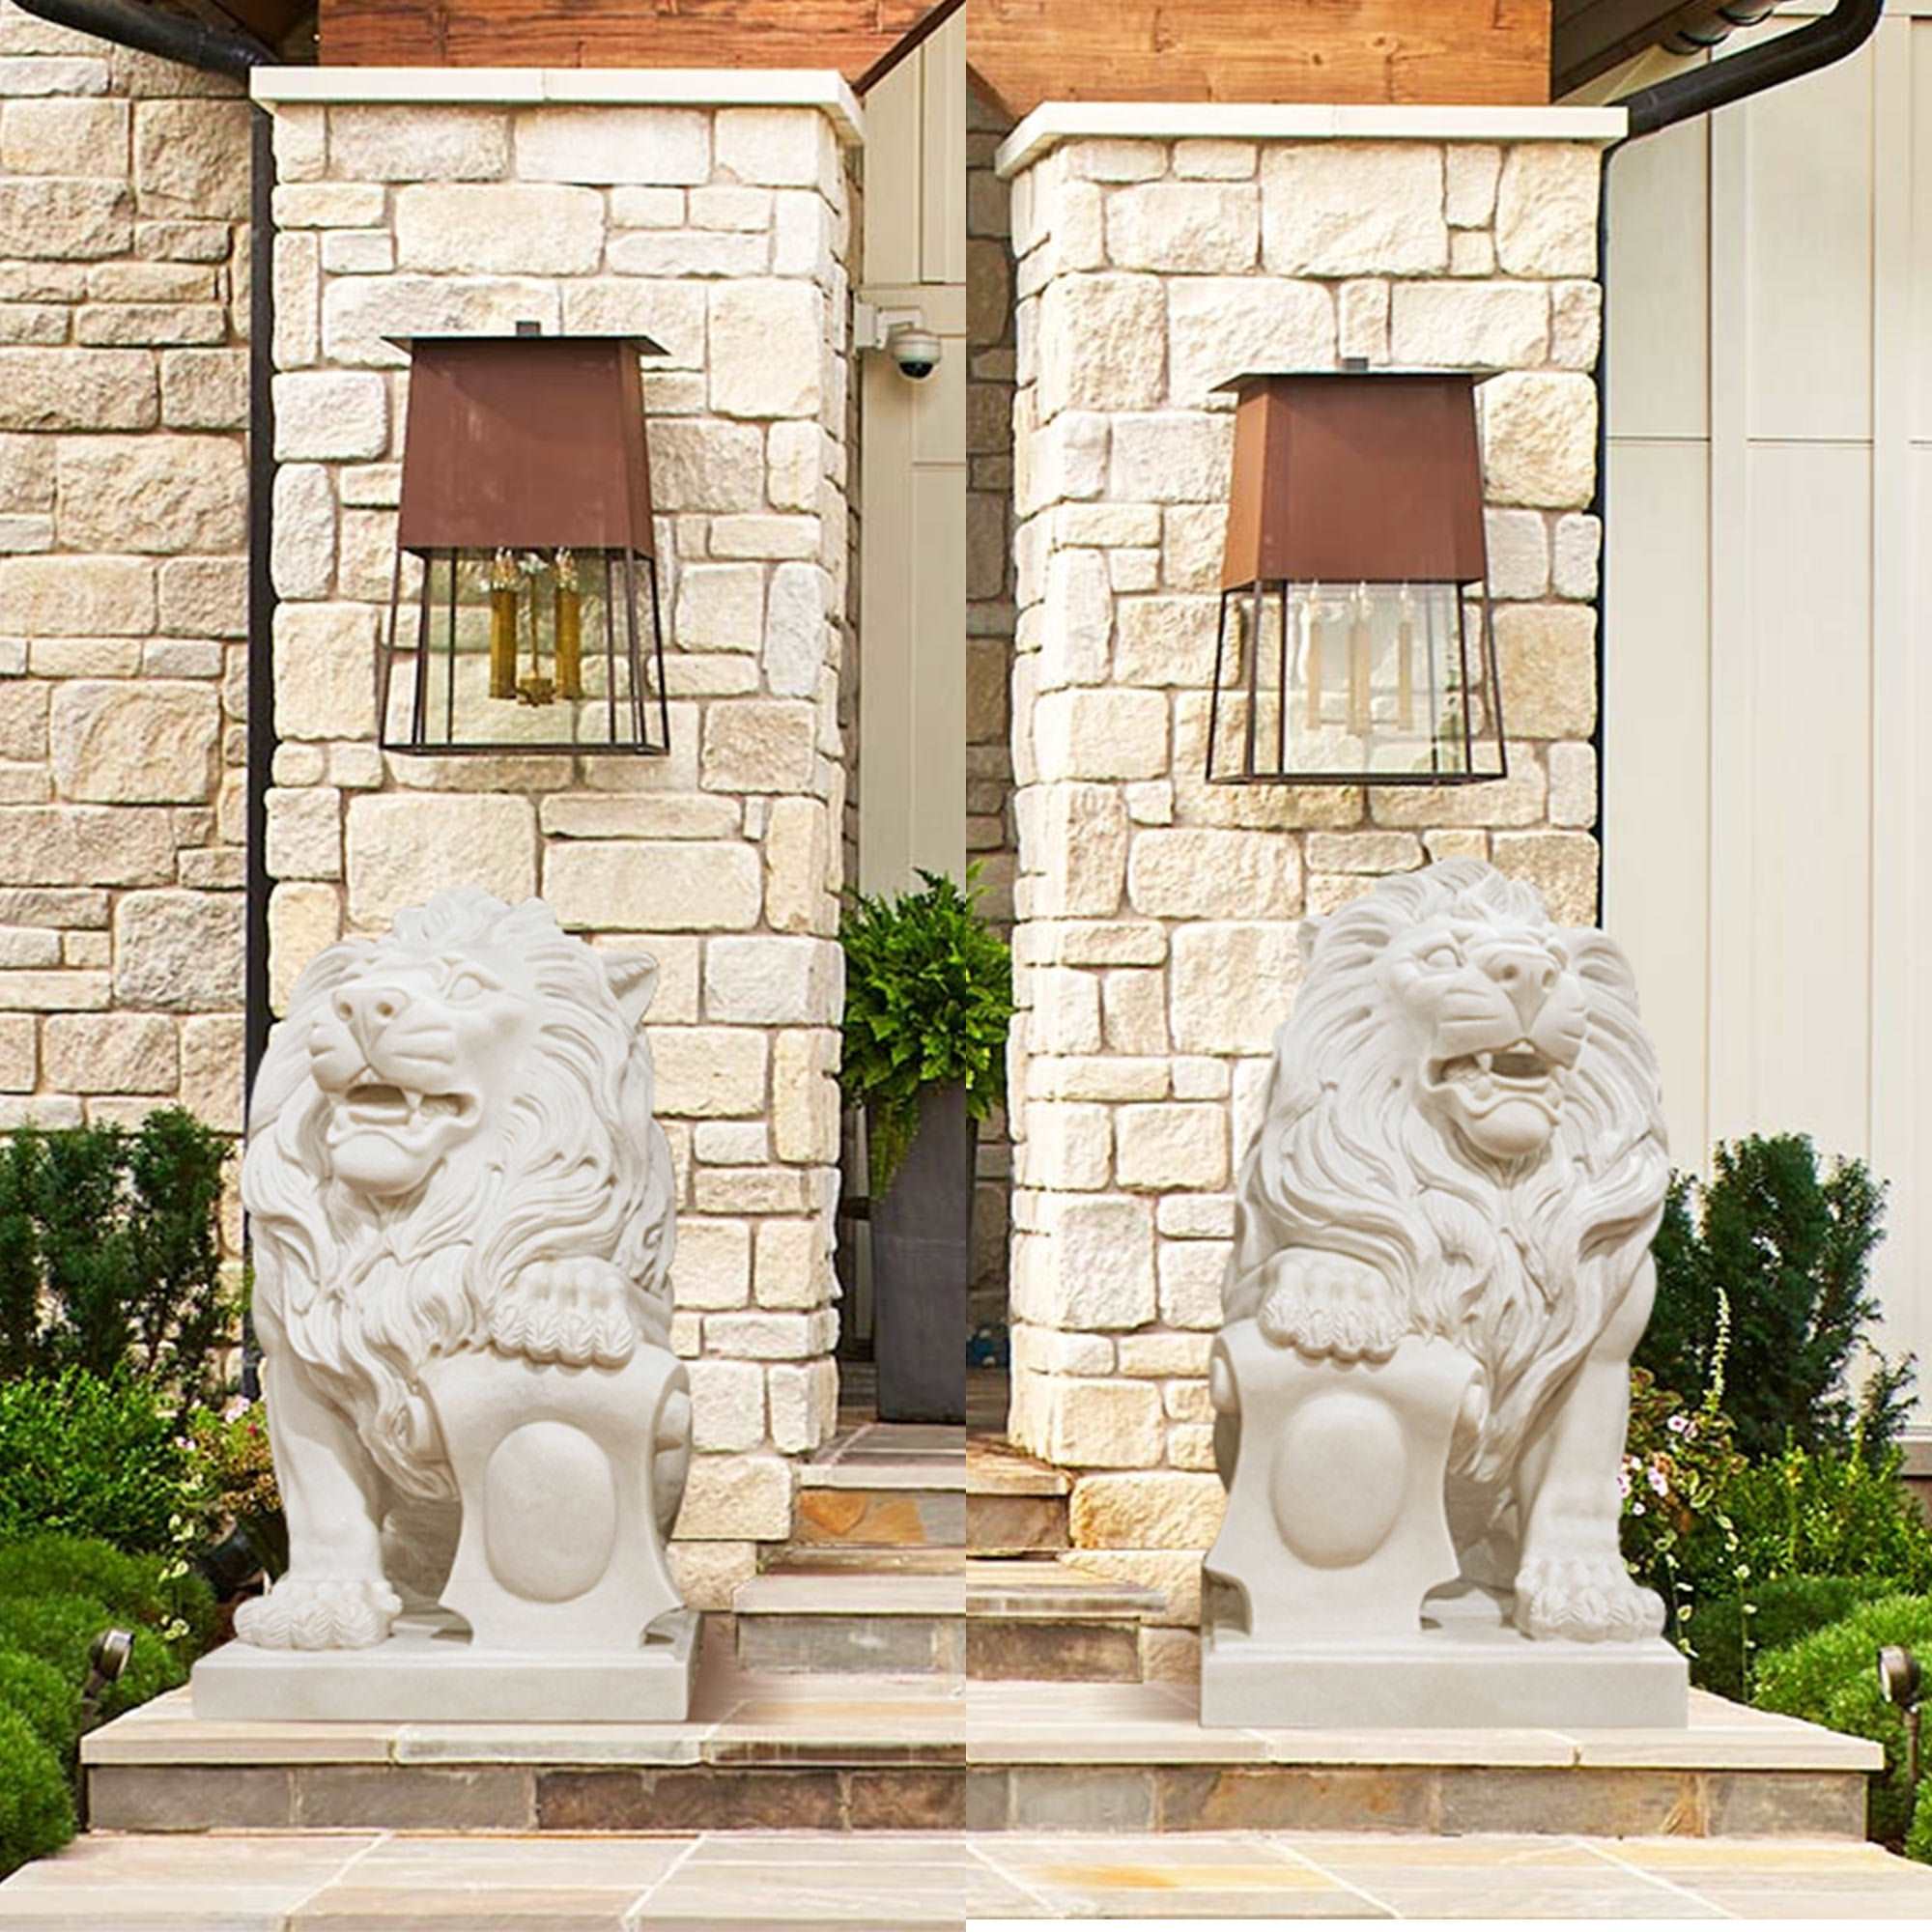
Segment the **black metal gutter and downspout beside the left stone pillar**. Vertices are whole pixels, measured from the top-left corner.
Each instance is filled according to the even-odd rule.
[[[280,54],[240,29],[209,27],[139,0],[19,0],[27,14],[102,41],[247,79]],[[243,883],[243,1094],[269,1045],[269,782],[274,767],[274,122],[249,124],[247,332],[247,850]]]

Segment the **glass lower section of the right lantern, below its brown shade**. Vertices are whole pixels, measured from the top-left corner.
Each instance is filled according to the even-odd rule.
[[[1223,595],[1209,779],[1457,784],[1503,771],[1482,585]]]

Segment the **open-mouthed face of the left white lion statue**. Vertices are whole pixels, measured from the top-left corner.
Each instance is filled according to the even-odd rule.
[[[390,949],[342,980],[309,1030],[334,1177],[415,1192],[502,1117],[535,1032],[529,968],[500,947]]]

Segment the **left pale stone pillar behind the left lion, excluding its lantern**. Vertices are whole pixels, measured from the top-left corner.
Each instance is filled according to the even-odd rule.
[[[674,1345],[701,1451],[678,1565],[690,1600],[721,1607],[755,1546],[790,1532],[788,1457],[837,1412],[844,143],[858,108],[837,75],[802,77],[796,104],[734,104],[732,73],[690,79],[261,77],[280,172],[269,867],[276,999],[340,931],[458,881],[541,893],[593,943],[657,956],[649,1034],[680,1188]],[[522,319],[636,330],[668,352],[643,381],[667,759],[375,748],[408,381],[383,338]]]

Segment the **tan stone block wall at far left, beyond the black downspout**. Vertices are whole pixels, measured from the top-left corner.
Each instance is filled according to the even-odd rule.
[[[242,1126],[234,93],[0,6],[0,1126]]]

